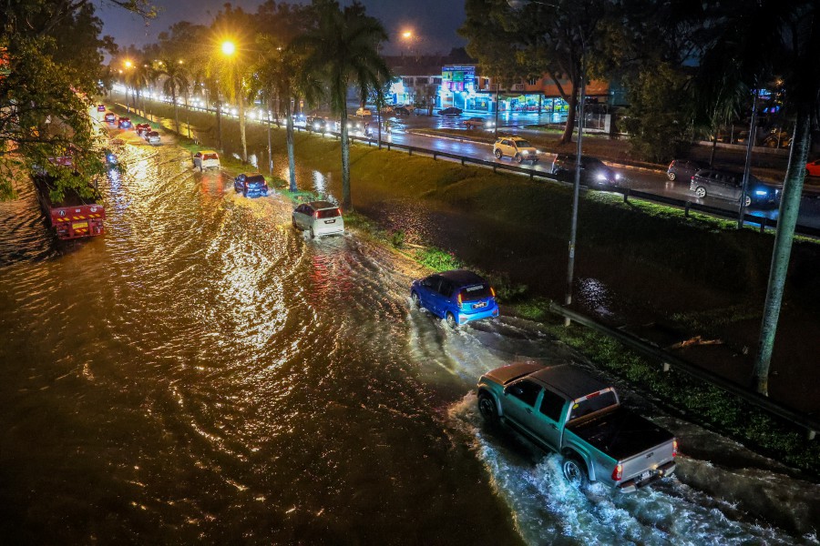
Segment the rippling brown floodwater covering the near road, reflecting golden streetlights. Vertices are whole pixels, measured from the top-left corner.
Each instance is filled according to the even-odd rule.
[[[736,498],[570,490],[470,393],[569,349],[513,319],[449,331],[410,310],[413,266],[305,238],[179,148],[114,147],[105,236],[56,244],[25,179],[0,204],[4,542],[816,543],[816,486],[774,470],[779,520],[706,460],[682,468]]]

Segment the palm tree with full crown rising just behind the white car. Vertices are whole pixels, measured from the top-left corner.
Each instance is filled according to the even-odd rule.
[[[329,88],[333,113],[342,121],[342,206],[351,208],[350,139],[347,130],[347,90],[356,86],[359,96],[379,86],[379,74],[389,74],[378,45],[387,40],[384,27],[364,15],[358,2],[343,10],[335,0],[314,0],[317,26],[294,41],[306,53],[307,70],[323,79]]]

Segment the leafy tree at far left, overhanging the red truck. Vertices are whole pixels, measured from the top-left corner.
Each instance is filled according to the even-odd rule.
[[[141,0],[107,2],[151,15]],[[100,37],[102,21],[91,0],[9,0],[3,6],[0,47],[8,73],[0,75],[0,198],[13,197],[12,180],[32,165],[48,169],[48,157],[71,146],[77,170],[103,172],[87,108],[108,79],[103,53],[116,53],[110,37]],[[87,190],[86,178],[57,177],[64,188]]]

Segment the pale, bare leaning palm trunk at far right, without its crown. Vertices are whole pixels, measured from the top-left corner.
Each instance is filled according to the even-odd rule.
[[[777,332],[777,321],[780,318],[780,308],[783,303],[786,272],[789,268],[789,257],[792,253],[792,243],[794,241],[794,226],[797,224],[800,197],[803,193],[805,163],[811,146],[811,112],[811,104],[798,104],[792,145],[794,160],[790,162],[786,171],[783,196],[781,197],[777,217],[772,268],[769,271],[764,318],[761,325],[757,357],[754,359],[752,378],[757,392],[764,396],[769,394],[769,367],[774,350],[774,335]]]

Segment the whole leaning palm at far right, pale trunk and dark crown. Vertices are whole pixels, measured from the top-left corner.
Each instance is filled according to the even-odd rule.
[[[811,145],[811,118],[820,106],[820,13],[813,0],[738,1],[728,3],[727,11],[716,14],[712,23],[718,32],[702,57],[704,73],[721,75],[725,88],[745,87],[746,93],[764,85],[769,77],[780,75],[787,91],[786,106],[794,114],[792,154],[784,179],[753,369],[755,388],[767,395],[774,336]]]

